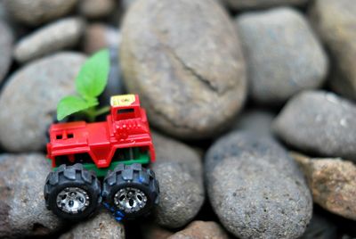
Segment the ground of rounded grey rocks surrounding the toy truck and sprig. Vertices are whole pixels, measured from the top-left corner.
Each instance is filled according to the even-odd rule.
[[[4,0],[0,36],[0,238],[356,237],[353,0]],[[73,225],[44,206],[45,134],[103,47],[160,201]]]

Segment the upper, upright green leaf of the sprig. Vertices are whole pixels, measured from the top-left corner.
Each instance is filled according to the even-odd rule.
[[[104,91],[109,77],[109,50],[101,50],[87,59],[76,78],[77,92],[85,99]]]

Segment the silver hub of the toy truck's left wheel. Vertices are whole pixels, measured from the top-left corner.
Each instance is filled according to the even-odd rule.
[[[57,195],[57,206],[62,211],[77,214],[89,205],[89,196],[79,187],[66,187]]]

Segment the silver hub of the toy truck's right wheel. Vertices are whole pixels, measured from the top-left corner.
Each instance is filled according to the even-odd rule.
[[[146,202],[146,194],[134,187],[122,188],[114,196],[114,203],[117,208],[128,213],[142,210]]]

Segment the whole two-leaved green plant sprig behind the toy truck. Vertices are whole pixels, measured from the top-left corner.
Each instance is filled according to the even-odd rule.
[[[98,97],[104,91],[109,76],[109,50],[101,50],[87,59],[76,78],[77,95],[65,96],[57,105],[57,119],[82,112],[93,121],[109,111],[109,106],[97,109]]]

